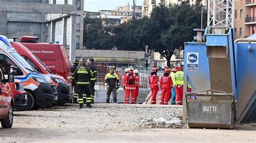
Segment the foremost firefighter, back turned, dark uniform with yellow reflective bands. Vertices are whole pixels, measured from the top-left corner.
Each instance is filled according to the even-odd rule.
[[[76,68],[74,77],[77,83],[77,93],[78,93],[78,103],[79,108],[84,108],[84,93],[86,94],[86,107],[92,108],[91,105],[91,89],[90,81],[93,77],[92,71],[89,67],[86,67],[86,59],[82,59],[82,63],[79,67]]]

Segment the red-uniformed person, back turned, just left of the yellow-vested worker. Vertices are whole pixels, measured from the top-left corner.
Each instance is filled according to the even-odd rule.
[[[170,76],[170,68],[165,67],[164,75],[160,78],[161,102],[160,105],[168,105],[172,89],[172,77]]]

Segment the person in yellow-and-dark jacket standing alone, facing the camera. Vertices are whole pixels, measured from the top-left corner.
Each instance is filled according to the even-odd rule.
[[[114,73],[114,67],[109,68],[109,73],[105,76],[105,88],[106,92],[106,103],[110,103],[110,94],[112,92],[114,103],[117,103],[117,89],[119,89],[119,78],[116,73]]]

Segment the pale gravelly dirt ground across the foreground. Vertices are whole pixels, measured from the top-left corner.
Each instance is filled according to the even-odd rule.
[[[182,116],[177,105],[94,104],[78,109],[61,108],[15,111],[14,126],[0,128],[0,141],[6,142],[256,142],[256,125],[238,125],[234,130],[191,129],[186,124],[165,124]]]

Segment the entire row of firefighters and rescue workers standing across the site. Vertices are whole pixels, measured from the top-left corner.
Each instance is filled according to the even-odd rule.
[[[112,92],[113,102],[117,103],[117,89],[120,88],[119,77],[114,73],[114,67],[109,67],[109,73],[105,76],[106,103],[110,103],[110,95]],[[122,76],[122,84],[125,92],[124,104],[136,104],[139,95],[139,70],[133,67],[126,68]],[[157,93],[161,90],[160,104],[181,105],[183,100],[183,75],[184,72],[180,66],[173,69],[165,67],[164,75],[160,77],[158,83],[158,68],[154,67],[149,76],[149,84],[152,92],[151,104],[157,103]],[[75,59],[71,67],[72,86],[74,87],[73,103],[79,103],[79,108],[92,108],[95,99],[95,83],[97,76],[97,68],[93,58]],[[188,84],[188,90],[191,87]],[[131,95],[131,99],[130,99]]]

